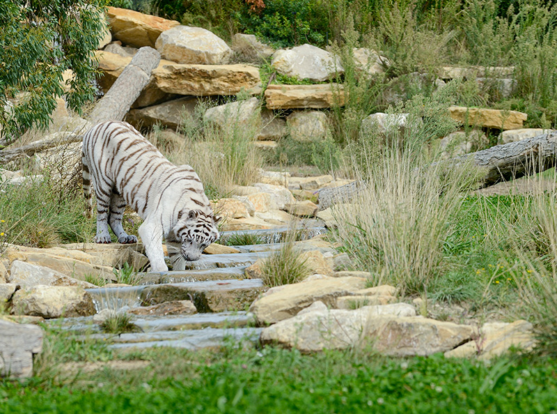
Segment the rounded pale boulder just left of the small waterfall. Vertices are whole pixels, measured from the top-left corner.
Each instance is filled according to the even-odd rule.
[[[12,314],[60,318],[95,314],[93,298],[78,286],[37,285],[13,296]]]

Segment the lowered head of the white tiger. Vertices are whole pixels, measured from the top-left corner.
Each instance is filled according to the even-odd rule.
[[[205,247],[219,238],[217,223],[220,220],[221,217],[207,215],[201,210],[189,210],[187,215],[178,215],[174,233],[176,239],[182,242],[184,259],[198,260]]]

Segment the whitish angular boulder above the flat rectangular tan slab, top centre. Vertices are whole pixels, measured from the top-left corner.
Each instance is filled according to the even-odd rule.
[[[313,82],[324,82],[344,73],[338,57],[308,44],[276,51],[271,65],[281,75],[309,79]]]

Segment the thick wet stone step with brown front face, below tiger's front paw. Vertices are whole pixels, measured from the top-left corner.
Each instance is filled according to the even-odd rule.
[[[193,300],[198,312],[244,310],[267,288],[261,279],[214,280],[146,286],[141,291],[142,305],[170,300]]]

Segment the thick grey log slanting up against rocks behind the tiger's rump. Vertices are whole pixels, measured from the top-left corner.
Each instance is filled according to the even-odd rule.
[[[126,112],[149,83],[151,71],[159,66],[161,55],[152,47],[141,47],[124,68],[116,82],[88,116],[93,125],[104,121],[122,121]]]

